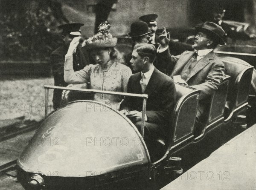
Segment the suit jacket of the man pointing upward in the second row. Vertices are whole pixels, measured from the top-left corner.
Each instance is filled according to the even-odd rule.
[[[186,51],[181,55],[172,56],[169,49],[157,54],[158,59],[162,60],[162,66],[170,70],[172,78],[181,74],[183,67],[194,55],[195,52]],[[218,89],[224,78],[224,71],[224,63],[212,51],[198,61],[192,72],[188,74],[186,83],[201,90],[200,100],[202,100]]]

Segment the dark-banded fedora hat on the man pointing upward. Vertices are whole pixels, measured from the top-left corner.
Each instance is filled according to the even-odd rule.
[[[215,23],[205,22],[203,26],[196,26],[197,32],[203,32],[209,35],[209,37],[216,43],[224,45],[225,41],[222,39],[225,31]]]

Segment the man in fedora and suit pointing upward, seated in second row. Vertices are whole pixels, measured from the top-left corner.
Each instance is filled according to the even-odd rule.
[[[181,55],[172,56],[169,52],[168,43],[170,34],[164,29],[160,35],[161,45],[157,49],[158,59],[162,60],[164,67],[170,69],[171,77],[175,82],[185,83],[201,90],[197,112],[198,126],[204,126],[204,110],[206,109],[207,97],[218,89],[224,78],[224,64],[215,55],[213,49],[218,44],[224,45],[222,39],[224,30],[215,23],[206,22],[201,27],[196,27],[198,34],[195,36],[193,47],[195,51],[186,51]],[[209,99],[209,98],[208,98]],[[199,133],[200,127],[196,132]]]

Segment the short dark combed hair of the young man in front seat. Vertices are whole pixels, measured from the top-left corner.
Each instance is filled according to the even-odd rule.
[[[134,50],[141,58],[148,57],[151,63],[154,62],[157,55],[156,48],[153,44],[139,43],[134,46]]]

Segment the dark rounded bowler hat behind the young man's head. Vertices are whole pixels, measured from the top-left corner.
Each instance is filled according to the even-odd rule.
[[[148,24],[143,21],[136,21],[131,23],[131,32],[128,33],[130,37],[140,37],[151,33],[148,32]]]

